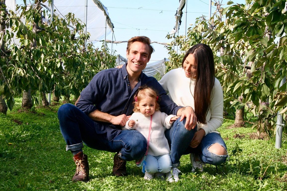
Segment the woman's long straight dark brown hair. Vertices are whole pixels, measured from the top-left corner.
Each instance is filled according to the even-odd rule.
[[[193,95],[194,110],[197,121],[203,124],[206,123],[206,114],[211,104],[212,89],[215,80],[214,58],[212,50],[208,45],[196,44],[186,52],[182,61],[182,67],[189,54],[193,54],[194,56],[197,71]]]

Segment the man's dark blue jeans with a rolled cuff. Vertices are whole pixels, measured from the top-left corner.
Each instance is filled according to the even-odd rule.
[[[139,159],[146,152],[146,138],[138,131],[121,131],[113,141],[109,141],[106,133],[97,133],[97,128],[103,128],[104,123],[93,121],[75,105],[62,105],[58,110],[58,118],[67,151],[82,149],[84,142],[93,149],[121,152],[121,158],[126,161]]]

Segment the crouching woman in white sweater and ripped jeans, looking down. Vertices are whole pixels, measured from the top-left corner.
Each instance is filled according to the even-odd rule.
[[[212,50],[205,44],[196,44],[185,54],[182,68],[170,70],[159,81],[170,99],[177,105],[191,106],[197,117],[197,130],[189,147],[182,154],[190,154],[192,171],[203,164],[219,165],[228,157],[226,145],[216,131],[223,123],[223,92],[218,79],[215,78]],[[172,139],[179,139],[174,129],[165,134],[171,147]],[[178,131],[178,130],[177,130]],[[180,131],[179,131],[180,132]],[[169,139],[170,135],[174,136]],[[174,164],[175,162],[172,161]],[[178,175],[177,175],[178,176]]]

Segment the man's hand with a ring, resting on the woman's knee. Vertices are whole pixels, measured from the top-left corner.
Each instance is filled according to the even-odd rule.
[[[177,113],[181,115],[181,118],[179,121],[183,121],[183,119],[186,117],[186,122],[184,126],[185,129],[190,131],[191,129],[195,128],[197,124],[197,117],[195,116],[195,113],[192,107],[190,106],[183,107],[179,109]]]

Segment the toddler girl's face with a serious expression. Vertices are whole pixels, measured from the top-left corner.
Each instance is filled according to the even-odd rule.
[[[156,99],[152,97],[146,97],[139,101],[137,109],[145,116],[150,116],[154,114],[156,109]]]

